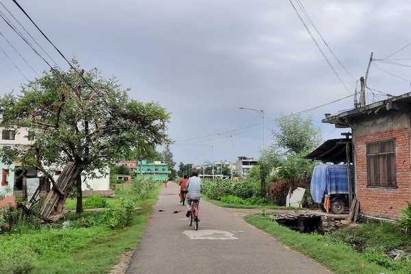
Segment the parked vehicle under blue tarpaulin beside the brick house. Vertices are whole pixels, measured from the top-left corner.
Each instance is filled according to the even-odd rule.
[[[351,186],[353,181],[353,166],[351,169]],[[314,202],[319,204],[323,212],[327,212],[326,199],[329,199],[329,209],[334,214],[343,214],[349,210],[347,164],[320,164],[314,167],[311,179],[311,196]],[[352,188],[354,193],[354,187]]]

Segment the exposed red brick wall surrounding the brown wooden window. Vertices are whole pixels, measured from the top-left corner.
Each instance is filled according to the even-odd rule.
[[[367,188],[366,143],[395,138],[397,188]],[[408,128],[356,136],[357,195],[362,214],[389,219],[401,217],[398,208],[411,201],[410,131]]]

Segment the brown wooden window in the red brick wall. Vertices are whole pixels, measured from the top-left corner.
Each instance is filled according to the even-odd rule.
[[[369,187],[397,187],[394,139],[367,143],[366,166]]]

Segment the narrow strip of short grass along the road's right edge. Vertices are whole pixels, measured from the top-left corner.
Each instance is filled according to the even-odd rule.
[[[384,266],[369,262],[364,255],[356,252],[349,245],[334,243],[325,236],[301,234],[256,214],[245,216],[245,220],[277,238],[279,242],[291,249],[312,258],[333,273],[396,273],[384,268]]]

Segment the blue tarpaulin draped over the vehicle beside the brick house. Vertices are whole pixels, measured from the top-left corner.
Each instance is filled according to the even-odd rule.
[[[351,165],[351,185],[354,172]],[[347,164],[320,164],[314,167],[310,192],[316,203],[323,203],[325,195],[348,194]]]

